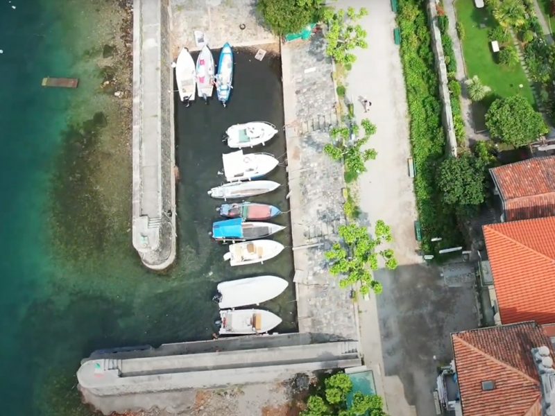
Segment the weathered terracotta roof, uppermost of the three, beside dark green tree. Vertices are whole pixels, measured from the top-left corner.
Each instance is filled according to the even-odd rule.
[[[555,156],[491,168],[507,221],[555,215]]]

